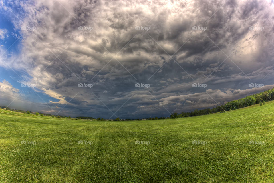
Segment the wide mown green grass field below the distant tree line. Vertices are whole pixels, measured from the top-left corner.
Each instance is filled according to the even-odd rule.
[[[274,182],[273,130],[272,101],[177,120],[0,113],[0,182]]]

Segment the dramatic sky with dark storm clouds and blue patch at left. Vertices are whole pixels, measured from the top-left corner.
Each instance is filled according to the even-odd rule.
[[[0,0],[0,106],[105,119],[216,107],[274,87],[273,22],[273,0]]]

